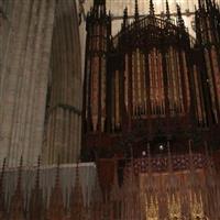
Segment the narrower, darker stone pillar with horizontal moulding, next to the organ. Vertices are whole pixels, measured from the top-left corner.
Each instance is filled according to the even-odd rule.
[[[45,164],[75,163],[80,148],[81,50],[76,1],[58,1],[46,118]]]

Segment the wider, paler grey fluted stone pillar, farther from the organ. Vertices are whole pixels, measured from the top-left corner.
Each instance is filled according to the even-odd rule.
[[[8,0],[0,75],[0,163],[37,162],[42,150],[55,0]],[[4,33],[3,33],[4,34]]]

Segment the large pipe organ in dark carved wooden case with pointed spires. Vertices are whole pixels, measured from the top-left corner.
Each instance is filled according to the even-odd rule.
[[[147,152],[202,151],[219,145],[219,18],[212,1],[199,1],[196,38],[177,4],[176,22],[154,3],[134,21],[124,9],[121,30],[111,35],[111,14],[95,1],[87,16],[82,110],[82,157],[135,158]]]

